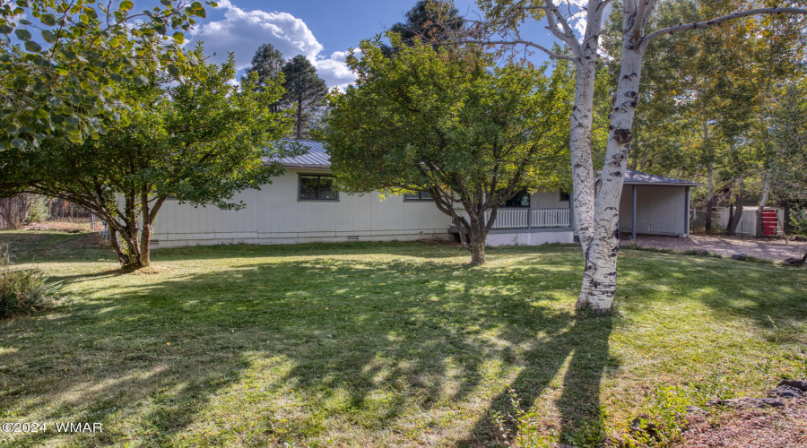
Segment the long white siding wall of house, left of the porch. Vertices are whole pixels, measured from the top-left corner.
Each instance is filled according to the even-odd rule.
[[[328,171],[287,169],[272,184],[237,194],[233,201],[247,204],[240,211],[169,200],[155,222],[154,239],[160,247],[170,247],[448,237],[450,219],[434,202],[404,202],[403,196],[381,201],[377,193],[341,193],[339,201],[298,201],[299,173]]]

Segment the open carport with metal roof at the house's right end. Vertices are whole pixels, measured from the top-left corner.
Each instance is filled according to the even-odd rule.
[[[620,200],[620,232],[690,236],[690,180],[628,169]]]

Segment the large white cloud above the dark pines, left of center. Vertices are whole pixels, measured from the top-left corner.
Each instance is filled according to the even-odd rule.
[[[226,60],[228,52],[232,52],[236,67],[242,70],[251,63],[257,48],[269,43],[287,59],[297,55],[308,57],[329,87],[343,88],[356,79],[344,64],[347,52],[322,55],[323,46],[306,23],[290,13],[247,12],[230,0],[221,0],[218,4],[225,10],[224,19],[199,26],[189,42],[189,45],[194,45],[196,41],[204,41],[204,50],[211,62],[221,63]]]

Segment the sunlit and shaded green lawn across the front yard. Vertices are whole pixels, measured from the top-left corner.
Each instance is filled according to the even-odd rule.
[[[482,267],[420,243],[191,247],[122,273],[77,237],[0,232],[68,294],[0,321],[0,421],[50,425],[0,444],[496,446],[509,388],[579,441],[662,385],[706,400],[807,377],[802,270],[622,250],[617,311],[589,316],[575,246]]]

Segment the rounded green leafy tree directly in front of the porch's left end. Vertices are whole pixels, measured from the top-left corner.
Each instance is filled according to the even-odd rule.
[[[393,58],[377,39],[361,43],[361,58],[347,59],[358,79],[331,96],[324,133],[331,167],[348,193],[429,192],[454,220],[471,263],[485,263],[504,202],[568,181],[572,74],[565,64],[546,77],[522,65],[496,67],[473,48],[438,53],[391,39]]]

